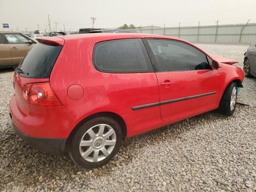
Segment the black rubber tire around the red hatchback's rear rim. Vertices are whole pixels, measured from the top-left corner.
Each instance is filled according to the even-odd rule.
[[[85,160],[82,155],[80,154],[80,141],[84,134],[92,127],[98,125],[98,124],[106,124],[110,126],[112,129],[114,129],[116,133],[116,144],[114,146],[114,149],[112,152],[106,156],[103,160],[100,160],[98,162],[89,162]],[[97,127],[96,127],[97,128]],[[71,136],[71,138],[68,139],[67,143],[67,150],[70,158],[79,166],[82,166],[86,169],[92,169],[92,168],[98,168],[100,166],[103,166],[104,164],[108,163],[112,158],[115,156],[115,154],[118,153],[119,148],[121,146],[122,142],[122,132],[121,128],[116,122],[116,120],[108,117],[108,116],[98,116],[95,118],[92,118],[83,124],[80,125],[78,130]],[[100,153],[100,152],[99,152]],[[90,156],[94,154],[94,151]],[[102,153],[103,155],[103,153]]]

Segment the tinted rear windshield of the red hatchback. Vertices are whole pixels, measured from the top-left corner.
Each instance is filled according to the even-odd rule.
[[[49,78],[62,46],[37,43],[25,56],[18,68],[26,78]]]

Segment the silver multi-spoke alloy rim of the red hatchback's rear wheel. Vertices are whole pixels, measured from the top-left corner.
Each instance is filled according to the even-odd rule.
[[[88,162],[104,160],[114,150],[116,132],[107,124],[98,124],[86,131],[79,144],[82,158]]]

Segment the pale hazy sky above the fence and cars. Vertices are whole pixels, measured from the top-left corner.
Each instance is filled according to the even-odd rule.
[[[8,23],[16,31],[44,31],[48,14],[58,30],[135,26],[197,26],[256,22],[256,0],[0,0],[0,30]]]

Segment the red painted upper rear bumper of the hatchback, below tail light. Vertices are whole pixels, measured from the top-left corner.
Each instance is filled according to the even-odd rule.
[[[20,112],[16,95],[10,100],[10,114],[13,124],[25,135],[34,138],[68,138],[77,121],[64,106],[29,106],[27,116]]]

